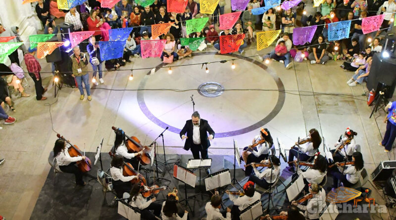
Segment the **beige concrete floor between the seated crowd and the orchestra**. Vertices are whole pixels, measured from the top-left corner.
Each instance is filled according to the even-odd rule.
[[[264,54],[269,50],[256,51],[251,46],[245,50],[244,56]],[[193,58],[172,65],[239,57],[237,54],[233,57],[217,55],[214,51],[209,47],[204,53],[198,51]],[[161,64],[159,58],[131,59],[133,62],[122,67],[123,71],[104,73],[105,83],[92,90],[91,102],[86,98],[80,101],[77,88],[62,88],[59,96],[54,98],[50,73],[42,74],[44,85],[49,86],[48,100],[36,101],[34,84],[29,77],[29,87],[25,89],[32,96],[17,98],[13,94],[16,113],[7,113],[16,117],[17,122],[0,124],[3,127],[0,157],[6,159],[0,167],[2,216],[10,220],[30,218],[49,172],[47,158],[56,140],[56,132],[91,152],[96,151],[104,137],[102,151],[107,152],[114,141],[111,126],[120,127],[128,135],[137,136],[148,144],[168,125],[170,129],[164,133],[166,152],[189,154],[181,148],[184,142],[178,131],[191,116],[192,94],[195,109],[222,136],[212,141],[210,154],[231,155],[233,139],[242,148],[261,127],[268,128],[273,138],[281,139],[286,147],[292,146],[298,136],[304,137],[311,128],[318,129],[325,144],[332,146],[350,127],[358,133],[356,143],[362,147],[369,174],[381,161],[395,160],[395,150],[387,154],[377,145],[385,132],[384,112],[376,113],[377,120],[369,119],[372,109],[366,104],[366,96],[361,96],[367,89],[364,86],[348,87],[345,82],[352,73],[344,72],[339,67],[340,62],[329,61],[323,66],[304,61],[286,70],[281,63],[263,65],[253,57],[251,61],[235,61],[235,70],[229,62],[209,64],[209,74],[200,65],[174,67],[172,75],[167,73],[167,68],[159,69],[154,75],[148,75],[149,70],[136,70],[133,71],[134,80],[128,81],[130,69]],[[45,60],[40,62],[43,72],[49,72],[50,65]],[[215,98],[203,97],[196,89],[206,82],[220,83],[226,91]],[[277,90],[280,85],[290,92],[280,94]],[[143,88],[165,90],[137,91]],[[373,188],[370,183],[365,187]],[[384,204],[377,190],[373,190],[373,197],[378,204]],[[382,214],[382,217],[387,218],[387,215]]]

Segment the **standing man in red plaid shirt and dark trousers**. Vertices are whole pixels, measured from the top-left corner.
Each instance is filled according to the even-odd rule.
[[[36,60],[34,54],[36,53],[37,48],[29,48],[28,53],[25,54],[24,60],[26,64],[26,68],[28,69],[29,76],[34,81],[34,86],[36,88],[36,99],[37,100],[46,100],[47,97],[43,96],[43,93],[47,91],[47,88],[43,88],[43,84],[41,82],[41,66],[39,61]]]

